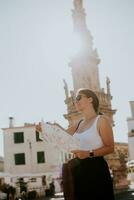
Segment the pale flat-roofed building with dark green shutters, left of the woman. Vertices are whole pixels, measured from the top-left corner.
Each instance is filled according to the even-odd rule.
[[[6,183],[20,190],[20,185],[25,185],[28,190],[40,192],[45,180],[58,180],[65,155],[39,138],[35,124],[15,127],[10,118],[9,128],[3,128],[3,133]]]

